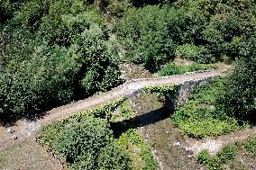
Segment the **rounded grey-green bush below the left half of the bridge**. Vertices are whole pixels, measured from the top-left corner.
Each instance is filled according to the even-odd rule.
[[[85,161],[84,168],[93,168],[95,165],[89,164],[96,159],[97,150],[104,148],[110,140],[112,133],[108,130],[106,122],[87,117],[82,123],[64,127],[54,148],[69,164],[80,164],[81,161]]]

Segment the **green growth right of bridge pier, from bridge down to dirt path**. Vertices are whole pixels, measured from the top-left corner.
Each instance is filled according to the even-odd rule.
[[[189,96],[189,102],[178,107],[172,115],[182,135],[196,138],[215,137],[240,130],[247,126],[222,112],[217,99],[224,94],[225,79],[212,79],[204,85],[197,85]]]

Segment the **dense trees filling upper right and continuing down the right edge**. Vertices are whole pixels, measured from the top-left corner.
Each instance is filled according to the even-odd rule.
[[[172,58],[198,63],[236,61],[222,94],[215,98],[218,112],[240,120],[255,115],[255,9],[253,0],[178,0],[171,4],[131,7],[116,20],[114,31],[126,58],[161,75],[182,73]],[[132,3],[133,4],[133,3]],[[147,3],[146,3],[147,4]],[[151,4],[151,3],[150,3]],[[193,70],[193,68],[191,68]],[[222,109],[220,109],[222,108]]]

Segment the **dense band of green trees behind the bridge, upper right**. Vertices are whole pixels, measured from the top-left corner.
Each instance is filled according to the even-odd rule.
[[[242,7],[241,7],[242,6]],[[213,63],[239,58],[255,30],[253,1],[183,1],[130,9],[114,31],[127,58],[155,70],[171,58]],[[152,38],[153,37],[153,38]]]

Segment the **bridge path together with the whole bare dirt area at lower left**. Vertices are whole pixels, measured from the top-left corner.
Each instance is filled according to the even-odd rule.
[[[45,151],[43,151],[42,148],[40,148],[40,146],[35,142],[35,132],[39,130],[42,125],[48,124],[52,121],[59,121],[71,114],[85,111],[100,104],[112,102],[119,97],[129,96],[130,94],[133,94],[133,92],[142,89],[144,86],[183,84],[187,81],[198,81],[208,77],[224,75],[225,74],[220,70],[211,70],[208,72],[197,72],[193,74],[188,73],[181,76],[136,79],[117,86],[106,93],[97,94],[76,103],[69,103],[67,105],[54,108],[47,112],[46,115],[41,117],[41,119],[36,121],[17,121],[14,126],[8,128],[9,131],[5,127],[0,127],[0,157],[2,159],[7,159],[4,160],[2,165],[0,159],[0,166],[2,166],[1,168],[4,169],[19,169],[19,167],[22,169],[35,169],[33,167],[34,164],[27,164],[27,159],[32,157],[35,158],[34,161],[38,163],[37,167],[39,169],[41,169],[41,166],[44,167],[44,169],[59,169],[60,165],[58,161],[52,160],[53,158],[50,157],[50,155],[47,156],[45,154],[41,154],[41,152],[45,153]],[[7,150],[12,151],[7,152]],[[6,153],[6,155],[3,155],[3,153]],[[6,161],[12,162],[12,160],[15,160],[17,156],[20,156],[21,159],[17,161],[18,163],[14,168],[9,168],[9,166],[4,165]]]

